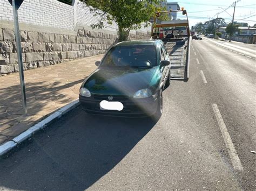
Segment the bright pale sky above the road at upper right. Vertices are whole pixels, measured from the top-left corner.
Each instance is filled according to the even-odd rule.
[[[234,20],[237,22],[248,23],[253,26],[256,24],[256,1],[254,0],[236,0],[237,5],[235,7],[235,17]],[[188,13],[188,19],[190,26],[195,25],[198,22],[204,23],[210,17],[210,19],[217,18],[217,13],[219,12],[219,17],[225,18],[226,23],[232,21],[232,15],[234,8],[231,7],[234,0],[214,0],[214,1],[201,1],[201,0],[180,0],[167,2],[178,2],[180,7],[184,7]],[[228,8],[230,6],[230,8]],[[220,8],[219,8],[220,7]],[[227,9],[226,12],[223,9]],[[228,15],[228,13],[230,15]]]

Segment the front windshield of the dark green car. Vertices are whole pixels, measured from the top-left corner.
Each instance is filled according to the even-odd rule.
[[[154,67],[157,52],[153,45],[116,46],[107,52],[100,66],[103,67]]]

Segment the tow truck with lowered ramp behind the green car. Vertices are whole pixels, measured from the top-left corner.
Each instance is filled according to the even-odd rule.
[[[157,17],[171,12],[181,12],[186,19],[158,22]],[[187,11],[184,8],[156,12],[151,28],[151,39],[161,39],[165,44],[171,59],[171,80],[187,81],[189,78],[190,36]]]

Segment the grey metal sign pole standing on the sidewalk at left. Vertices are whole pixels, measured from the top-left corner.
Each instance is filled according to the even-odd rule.
[[[15,0],[12,0],[12,10],[14,11],[14,29],[15,29],[15,39],[16,39],[17,54],[18,54],[19,81],[21,81],[22,105],[23,105],[24,115],[26,115],[28,114],[28,109],[26,108],[26,92],[25,92],[25,82],[24,82],[23,63],[22,63],[21,39],[19,37],[18,6]]]

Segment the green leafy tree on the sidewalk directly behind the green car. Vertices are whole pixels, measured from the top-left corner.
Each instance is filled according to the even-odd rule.
[[[99,16],[97,24],[91,25],[92,29],[96,27],[102,29],[104,22],[118,25],[119,41],[128,38],[131,30],[138,30],[150,25],[149,19],[155,15],[159,0],[84,0],[91,6],[90,11]]]

